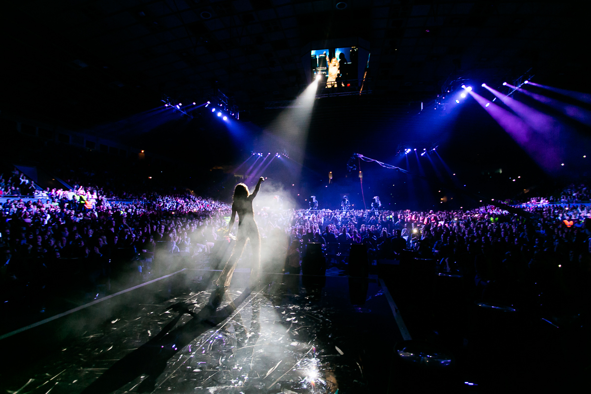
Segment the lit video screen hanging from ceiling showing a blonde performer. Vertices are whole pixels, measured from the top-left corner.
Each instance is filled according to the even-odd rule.
[[[358,86],[359,51],[357,47],[311,51],[312,78],[322,74],[326,87]]]

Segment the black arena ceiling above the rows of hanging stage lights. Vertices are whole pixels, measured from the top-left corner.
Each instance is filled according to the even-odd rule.
[[[265,102],[303,90],[306,45],[347,37],[370,46],[363,105],[434,100],[454,79],[495,86],[530,69],[545,84],[589,87],[581,3],[337,3],[4,2],[2,109],[86,128],[161,105],[163,94],[199,102],[220,89],[265,123]]]

